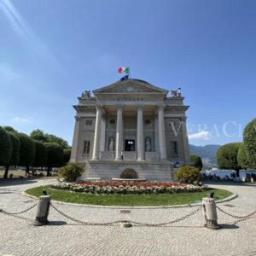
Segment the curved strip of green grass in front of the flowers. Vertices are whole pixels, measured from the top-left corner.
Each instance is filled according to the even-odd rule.
[[[224,189],[208,189],[203,192],[184,193],[184,194],[159,194],[159,195],[90,195],[78,192],[68,192],[64,190],[50,189],[43,186],[26,190],[29,195],[42,195],[45,189],[52,200],[70,203],[102,205],[102,206],[170,206],[183,205],[201,202],[203,197],[214,192],[215,200],[224,199],[232,193]]]

